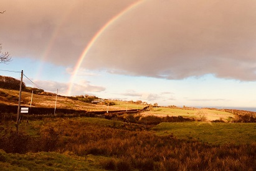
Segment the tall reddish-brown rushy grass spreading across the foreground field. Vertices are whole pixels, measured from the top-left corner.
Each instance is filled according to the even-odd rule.
[[[26,133],[1,134],[0,147],[6,152],[55,151],[106,156],[102,167],[112,170],[255,170],[256,143],[222,146],[196,140],[157,136],[148,131],[131,131],[95,125],[82,120],[47,120],[39,136]],[[2,132],[3,133],[3,132]],[[22,139],[25,148],[11,139]],[[6,146],[4,144],[9,144]]]

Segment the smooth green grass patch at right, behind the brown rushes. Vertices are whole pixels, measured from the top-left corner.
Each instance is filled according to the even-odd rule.
[[[211,144],[256,143],[256,123],[159,123],[151,130],[159,136],[173,134],[176,138],[198,139]]]

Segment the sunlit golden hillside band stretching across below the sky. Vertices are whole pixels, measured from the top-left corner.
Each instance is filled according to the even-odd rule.
[[[32,90],[31,90],[32,92]],[[31,92],[22,92],[21,105],[25,107],[36,108],[54,108],[56,94],[48,92],[40,92],[33,94]],[[31,103],[32,97],[32,103]],[[10,89],[0,89],[0,103],[6,105],[17,106],[19,100],[19,91]],[[83,102],[85,97],[64,97],[57,96],[56,108],[70,110],[84,110],[87,112],[96,111],[115,111],[115,110],[141,110],[148,107],[148,110],[141,112],[142,116],[183,116],[192,120],[200,121],[239,121],[239,122],[255,122],[255,112],[244,110],[218,110],[216,108],[179,108],[179,107],[156,107],[152,105],[143,105],[136,102],[126,102],[121,100],[105,100],[104,103],[92,104]],[[87,100],[88,101],[88,100]],[[107,104],[110,104],[109,106]]]

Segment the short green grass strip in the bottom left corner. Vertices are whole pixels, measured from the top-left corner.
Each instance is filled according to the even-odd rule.
[[[103,157],[75,156],[72,152],[28,152],[11,154],[0,149],[1,170],[103,170],[99,160]]]

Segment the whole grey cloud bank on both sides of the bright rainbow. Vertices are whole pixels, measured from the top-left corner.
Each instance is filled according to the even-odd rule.
[[[73,67],[98,30],[138,0],[1,1],[4,50]],[[256,1],[144,1],[109,25],[82,68],[131,76],[256,81]]]

